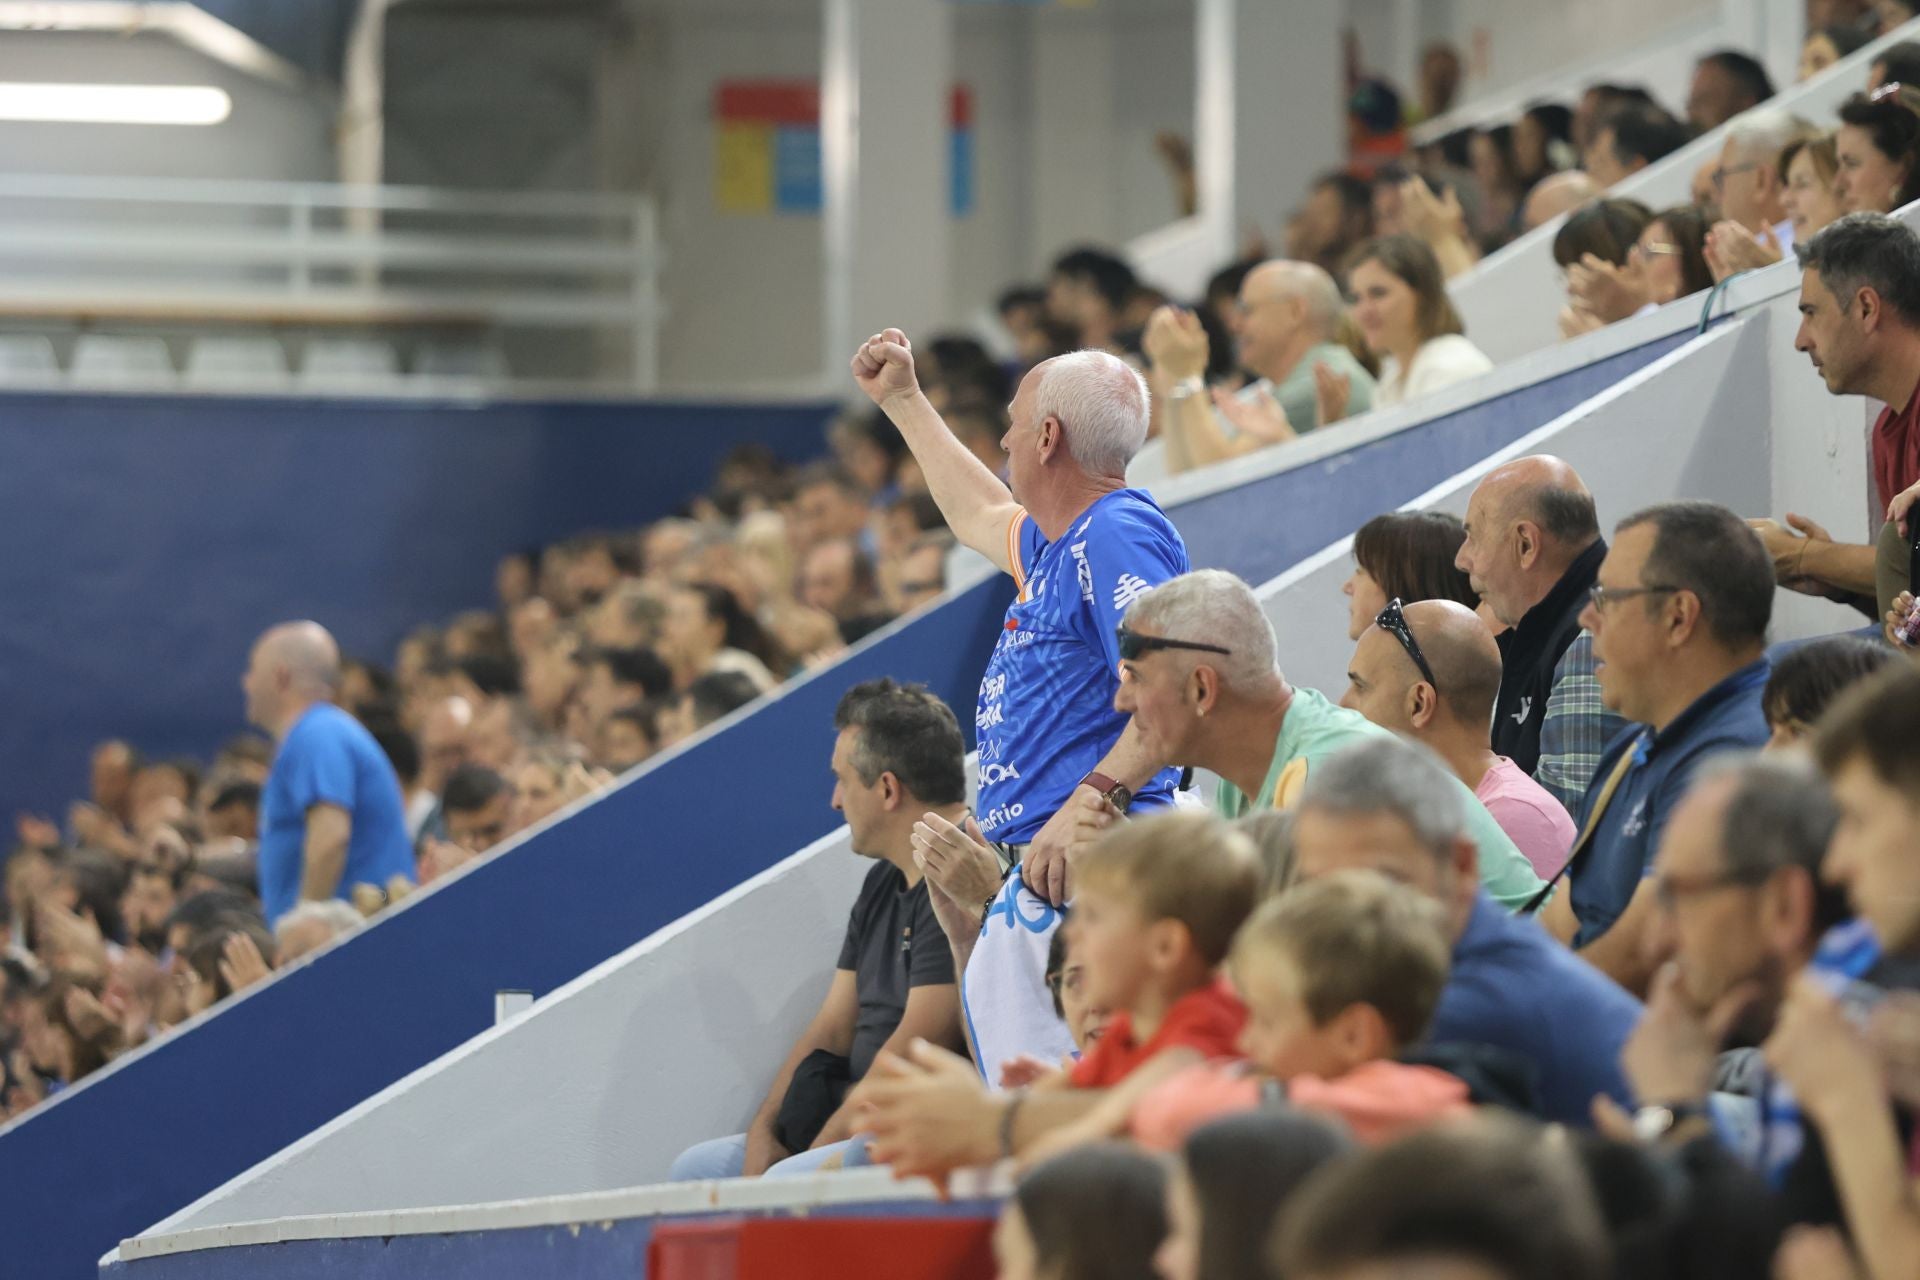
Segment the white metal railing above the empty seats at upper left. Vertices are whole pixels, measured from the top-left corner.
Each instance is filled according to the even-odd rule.
[[[0,328],[559,330],[647,391],[660,259],[643,196],[0,177]]]

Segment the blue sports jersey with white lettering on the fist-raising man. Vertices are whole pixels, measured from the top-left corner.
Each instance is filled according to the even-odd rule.
[[[1127,606],[1179,578],[1187,543],[1140,489],[1116,489],[1048,543],[1027,512],[1006,530],[1018,593],[979,681],[979,829],[1021,844],[1112,750],[1127,718],[1114,710]],[[1158,773],[1137,808],[1169,804],[1179,773]]]

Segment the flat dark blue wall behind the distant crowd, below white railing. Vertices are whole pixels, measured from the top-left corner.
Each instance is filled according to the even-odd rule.
[[[209,754],[275,622],[390,660],[501,555],[664,516],[739,443],[818,457],[828,413],[0,397],[0,816],[61,818],[104,737]]]

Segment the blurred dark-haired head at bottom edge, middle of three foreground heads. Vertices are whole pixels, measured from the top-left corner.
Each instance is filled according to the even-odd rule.
[[[1346,1130],[1286,1107],[1202,1125],[1167,1173],[1162,1280],[1271,1280],[1273,1219],[1313,1171],[1352,1148]]]

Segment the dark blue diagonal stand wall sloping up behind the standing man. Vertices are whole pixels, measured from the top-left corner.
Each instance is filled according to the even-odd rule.
[[[1642,347],[1173,514],[1196,564],[1260,581],[1670,345]],[[1338,482],[1329,484],[1334,474]],[[624,482],[609,484],[618,491]],[[407,497],[405,487],[390,487],[378,501]],[[380,510],[369,503],[365,518]],[[284,562],[261,557],[252,572],[265,576],[265,566]],[[996,578],[876,637],[561,827],[0,1130],[0,1205],[17,1221],[6,1226],[0,1257],[21,1274],[90,1276],[121,1238],[482,1031],[493,990],[547,992],[824,835],[835,825],[826,762],[841,691],[883,674],[922,679],[970,725],[1008,597],[1008,581]],[[420,612],[432,610],[403,620]]]

